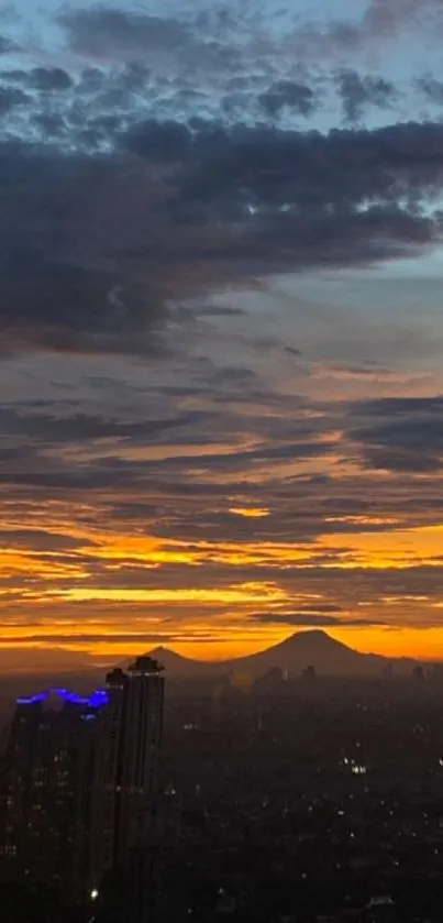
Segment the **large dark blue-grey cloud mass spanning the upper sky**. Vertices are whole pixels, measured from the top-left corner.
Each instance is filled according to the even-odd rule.
[[[3,350],[158,351],[177,299],[440,239],[440,124],[315,132],[148,121],[110,154],[0,151]]]

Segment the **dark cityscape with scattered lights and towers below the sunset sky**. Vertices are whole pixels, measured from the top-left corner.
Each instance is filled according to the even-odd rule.
[[[328,636],[300,642],[321,657]],[[8,923],[438,923],[443,670],[380,661],[246,682],[165,677],[145,655],[89,693],[20,696],[0,774]]]

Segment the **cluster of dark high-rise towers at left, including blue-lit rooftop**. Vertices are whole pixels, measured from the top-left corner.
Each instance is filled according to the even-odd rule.
[[[3,888],[49,888],[103,923],[155,919],[163,705],[149,657],[90,696],[53,689],[18,700],[0,778]]]

